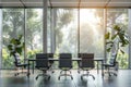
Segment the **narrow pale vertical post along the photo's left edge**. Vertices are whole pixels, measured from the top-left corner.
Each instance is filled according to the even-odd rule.
[[[0,9],[0,69],[2,65],[2,10]]]

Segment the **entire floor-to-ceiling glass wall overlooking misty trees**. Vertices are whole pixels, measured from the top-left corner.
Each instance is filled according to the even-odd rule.
[[[72,53],[72,57],[76,57],[80,51],[95,53],[96,58],[104,58],[105,26],[109,32],[112,32],[111,27],[116,23],[122,23],[127,32],[129,27],[128,9],[107,9],[107,13],[104,10],[80,9],[79,16],[78,9],[49,8],[47,15],[48,52],[55,52],[56,55]],[[107,17],[104,14],[107,14]],[[43,52],[43,9],[2,9],[0,17],[2,17],[0,18],[2,22],[0,24],[2,69],[11,69],[14,65],[7,46],[10,39],[16,38],[17,35],[23,35],[23,41],[25,41],[25,53],[23,52],[22,59],[24,59],[24,54],[27,59],[33,59],[37,52]],[[107,21],[107,25],[105,21]],[[129,47],[124,49],[126,54],[119,54],[117,59],[120,69],[129,66],[128,50]]]

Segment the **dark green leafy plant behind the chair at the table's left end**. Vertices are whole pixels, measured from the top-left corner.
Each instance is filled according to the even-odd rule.
[[[22,41],[22,35],[19,35],[17,38],[12,38],[10,40],[10,44],[8,45],[8,49],[10,51],[10,57],[15,55],[15,53],[19,53],[20,55],[23,52],[24,49],[24,42]]]

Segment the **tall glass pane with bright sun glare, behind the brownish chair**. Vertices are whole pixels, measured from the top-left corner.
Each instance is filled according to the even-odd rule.
[[[104,58],[104,9],[80,9],[80,52]]]

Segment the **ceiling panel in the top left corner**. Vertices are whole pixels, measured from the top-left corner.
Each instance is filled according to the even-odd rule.
[[[20,0],[0,0],[0,7],[23,7]]]

